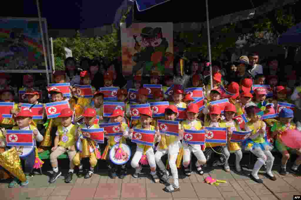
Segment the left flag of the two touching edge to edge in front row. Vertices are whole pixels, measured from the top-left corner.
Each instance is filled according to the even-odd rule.
[[[206,130],[193,131],[193,130],[185,129],[183,140],[187,144],[204,145],[205,144],[205,131]]]

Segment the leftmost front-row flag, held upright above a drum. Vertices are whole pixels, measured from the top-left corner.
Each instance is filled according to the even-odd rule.
[[[33,146],[33,130],[7,130],[7,146]]]

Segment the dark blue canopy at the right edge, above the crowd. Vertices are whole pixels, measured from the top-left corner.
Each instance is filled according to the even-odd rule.
[[[288,29],[278,38],[278,45],[301,45],[301,23]]]

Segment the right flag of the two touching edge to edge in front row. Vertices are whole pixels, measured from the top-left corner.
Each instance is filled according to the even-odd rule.
[[[227,128],[219,127],[205,127],[208,132],[206,133],[206,142],[210,143],[227,143]]]

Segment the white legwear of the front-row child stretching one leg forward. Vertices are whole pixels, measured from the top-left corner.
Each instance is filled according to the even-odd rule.
[[[155,153],[156,163],[157,163],[158,167],[160,168],[160,170],[163,172],[166,171],[166,167],[165,167],[164,163],[162,162],[161,158],[163,155],[165,155],[167,153],[169,153],[168,150],[163,150],[163,149],[158,149],[157,152]],[[178,179],[178,169],[177,169],[177,166],[175,165],[177,157],[178,157],[178,153],[174,153],[172,155],[169,154],[169,162],[168,163],[169,163],[169,167],[170,167],[173,179]]]

